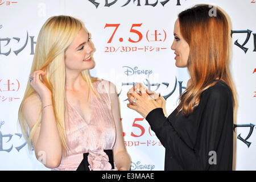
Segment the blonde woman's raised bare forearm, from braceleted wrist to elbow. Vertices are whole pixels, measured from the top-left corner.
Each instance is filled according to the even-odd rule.
[[[45,155],[44,165],[49,168],[59,166],[61,160],[61,142],[59,131],[56,125],[55,114],[51,99],[42,100],[42,120],[38,140],[36,142],[35,154],[36,158],[42,159],[42,154]]]

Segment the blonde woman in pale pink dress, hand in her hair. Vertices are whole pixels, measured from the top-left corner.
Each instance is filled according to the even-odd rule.
[[[90,77],[84,23],[52,16],[41,28],[19,122],[36,158],[53,170],[129,170],[115,86]]]

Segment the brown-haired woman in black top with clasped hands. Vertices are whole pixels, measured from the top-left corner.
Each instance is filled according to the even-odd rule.
[[[229,71],[230,26],[218,7],[196,5],[175,22],[172,49],[177,67],[191,79],[179,106],[168,116],[163,101],[141,84],[129,90],[138,111],[166,148],[165,170],[232,170],[235,89]],[[214,7],[215,8],[215,7]]]

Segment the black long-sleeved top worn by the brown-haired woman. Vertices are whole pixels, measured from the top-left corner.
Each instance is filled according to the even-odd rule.
[[[191,115],[166,118],[162,108],[146,120],[166,148],[164,170],[232,170],[233,95],[224,81],[204,90]]]

